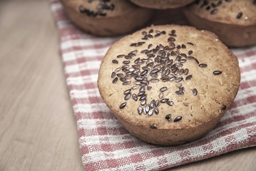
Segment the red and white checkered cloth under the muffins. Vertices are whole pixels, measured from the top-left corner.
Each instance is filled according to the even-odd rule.
[[[256,145],[256,46],[232,51],[239,58],[240,90],[220,123],[204,138],[175,147],[150,145],[130,135],[103,103],[98,69],[121,37],[97,37],[79,30],[51,0],[61,37],[61,56],[85,170],[164,170]]]

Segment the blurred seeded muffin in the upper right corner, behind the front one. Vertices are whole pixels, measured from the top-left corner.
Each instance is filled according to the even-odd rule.
[[[256,44],[255,0],[201,0],[184,9],[191,25],[213,31],[230,47]]]

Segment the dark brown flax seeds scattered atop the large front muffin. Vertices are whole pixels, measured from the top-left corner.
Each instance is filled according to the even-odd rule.
[[[155,38],[161,35],[165,35],[166,31],[142,31],[142,39],[148,40],[148,38]],[[148,91],[152,89],[154,83],[170,82],[170,84],[176,84],[177,89],[173,90],[175,95],[184,95],[185,88],[183,85],[187,81],[193,80],[193,73],[190,73],[189,68],[183,68],[183,63],[190,62],[193,65],[197,65],[199,68],[207,68],[208,64],[200,63],[198,59],[193,56],[194,52],[190,50],[190,46],[196,46],[195,43],[185,42],[176,44],[175,41],[178,38],[175,30],[171,30],[168,33],[166,44],[163,46],[161,43],[153,45],[149,43],[147,48],[138,52],[136,47],[143,46],[146,41],[134,42],[130,46],[134,47],[133,51],[128,54],[118,54],[112,63],[117,65],[123,63],[122,66],[118,65],[115,71],[111,73],[112,83],[121,81],[123,86],[129,86],[127,90],[123,92],[123,100],[135,100],[138,101],[138,114],[141,115],[158,115],[160,105],[173,106],[174,102],[169,98],[166,98],[168,87],[163,86],[158,92],[158,99],[148,101]],[[181,51],[181,49],[183,49]],[[187,51],[186,53],[184,51]],[[222,71],[213,71],[213,76],[220,75]],[[138,89],[138,90],[137,90]],[[197,88],[193,88],[192,92],[194,96],[198,95]],[[121,103],[120,109],[126,107],[126,102]],[[189,103],[183,103],[188,106]],[[171,121],[171,114],[165,116],[165,119]],[[173,122],[178,122],[182,119],[178,116],[173,119]]]

